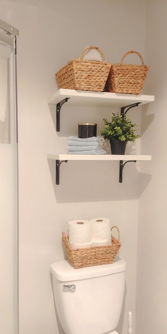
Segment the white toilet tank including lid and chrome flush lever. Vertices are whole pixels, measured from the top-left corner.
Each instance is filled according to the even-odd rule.
[[[57,313],[66,334],[118,334],[126,262],[74,269],[68,260],[51,264]]]

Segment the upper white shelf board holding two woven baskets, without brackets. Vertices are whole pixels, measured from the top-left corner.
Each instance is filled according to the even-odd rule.
[[[50,99],[48,99],[48,104],[57,104],[65,98],[69,98],[68,105],[72,106],[106,108],[122,108],[136,102],[141,102],[141,105],[143,105],[154,101],[154,96],[152,95],[116,94],[59,89],[50,97]]]

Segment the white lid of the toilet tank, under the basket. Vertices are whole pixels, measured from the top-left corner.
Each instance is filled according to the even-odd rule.
[[[88,278],[106,276],[124,272],[126,262],[116,257],[112,264],[74,269],[68,260],[54,262],[50,265],[50,272],[61,282],[84,280]]]

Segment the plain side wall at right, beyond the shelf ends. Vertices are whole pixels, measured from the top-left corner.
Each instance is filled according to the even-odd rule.
[[[150,64],[145,94],[155,102],[143,108],[141,150],[152,154],[141,165],[148,186],[139,199],[136,334],[167,333],[166,270],[166,0],[147,1],[145,61]]]

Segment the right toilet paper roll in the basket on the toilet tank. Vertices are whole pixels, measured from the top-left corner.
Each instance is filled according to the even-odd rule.
[[[108,218],[94,218],[91,219],[92,223],[92,240],[94,241],[106,241],[111,240],[111,227],[110,219]]]

